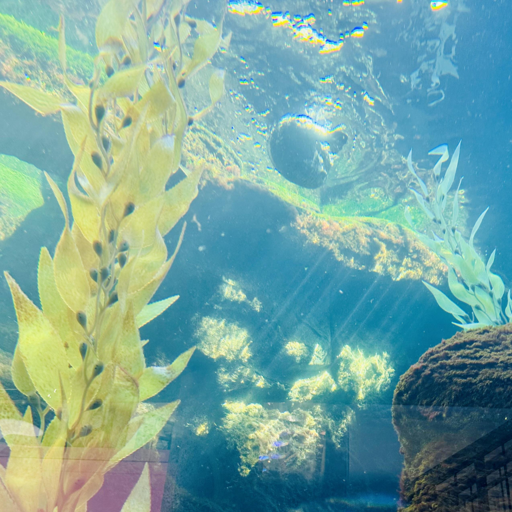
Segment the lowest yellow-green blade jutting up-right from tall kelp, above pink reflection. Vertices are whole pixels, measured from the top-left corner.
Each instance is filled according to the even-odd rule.
[[[165,423],[179,406],[180,400],[167,403],[165,406],[152,411],[148,411],[140,416],[136,416],[130,422],[139,422],[138,429],[132,438],[119,450],[109,461],[108,469],[114,467],[125,457],[136,452],[144,444],[150,442],[163,429]]]

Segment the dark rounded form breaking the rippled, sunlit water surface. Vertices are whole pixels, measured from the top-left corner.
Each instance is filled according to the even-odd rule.
[[[332,166],[331,151],[347,142],[339,129],[326,130],[308,116],[285,116],[270,134],[270,158],[287,180],[305,188],[322,186]]]

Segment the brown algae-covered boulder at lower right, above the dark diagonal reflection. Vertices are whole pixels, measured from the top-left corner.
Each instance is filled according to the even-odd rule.
[[[400,377],[393,424],[404,456],[401,498],[408,510],[450,509],[445,496],[438,499],[426,470],[503,424],[509,408],[510,324],[458,332]]]

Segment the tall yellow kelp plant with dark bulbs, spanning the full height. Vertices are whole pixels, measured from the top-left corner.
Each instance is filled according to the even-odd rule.
[[[40,114],[60,111],[75,156],[67,183],[73,219],[47,175],[65,227],[53,259],[46,247],[40,251],[42,310],[5,274],[19,329],[12,379],[29,406],[20,413],[0,387],[0,428],[10,448],[7,468],[0,465],[4,512],[86,512],[104,474],[157,436],[178,406],[141,402],[179,375],[194,348],[167,367],[146,367],[139,328],[178,298],[148,304],[183,229],[170,258],[162,237],[196,197],[201,176],[200,168],[184,171],[166,190],[192,120],[180,87],[222,41],[221,28],[187,17],[185,7],[182,0],[106,3],[87,86],[66,74],[61,20],[59,60],[75,104],[2,82]],[[198,36],[186,58],[182,44],[192,27]],[[210,79],[211,104],[222,79],[218,71]],[[150,507],[146,465],[122,510]]]

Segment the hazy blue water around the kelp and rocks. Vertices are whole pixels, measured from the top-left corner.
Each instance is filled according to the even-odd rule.
[[[327,185],[317,191],[322,206],[345,198],[352,187],[372,180],[377,183],[379,173],[390,173],[390,169],[401,176],[392,182],[393,200],[401,201],[410,194],[407,187],[397,190],[407,174],[405,159],[411,147],[413,161],[430,168],[435,160],[426,160],[429,150],[447,143],[452,154],[462,140],[457,178],[464,177],[465,232],[471,232],[489,207],[476,243],[485,261],[496,248],[493,268],[507,290],[512,276],[512,10],[506,0],[448,0],[438,11],[430,4],[428,0],[366,0],[364,5],[344,6],[340,0],[273,0],[269,13],[313,13],[315,29],[323,27],[325,35],[335,40],[340,33],[368,23],[368,30],[361,28],[363,37],[345,37],[339,52],[322,55],[318,45],[293,38],[286,27],[272,26],[270,14],[226,13],[221,0],[189,3],[189,16],[216,24],[223,19],[223,34],[232,31],[229,49],[212,58],[215,66],[226,69],[225,97],[204,125],[238,155],[249,172],[251,167],[269,164],[265,139],[283,116],[316,115],[318,122],[328,118],[345,123],[347,148],[354,144],[352,153],[344,153],[349,155],[351,170],[357,173],[368,161],[368,156],[355,160],[361,148],[371,147],[378,156],[364,176],[357,175],[348,185],[331,184],[329,189],[334,173],[330,170]],[[91,6],[98,9],[93,2]],[[14,14],[20,18],[17,11]],[[37,18],[27,23],[36,24]],[[79,19],[73,23],[78,27]],[[433,71],[425,69],[434,66],[441,27],[446,26],[454,36],[441,41],[443,55],[448,58],[453,51],[449,68],[458,76],[440,73],[433,87]],[[87,31],[85,37],[89,37]],[[80,45],[79,38],[75,42]],[[94,50],[87,45],[80,49]],[[417,69],[423,71],[413,86]],[[334,82],[319,81],[330,74]],[[245,76],[253,77],[254,83],[243,84]],[[342,76],[346,83],[336,88]],[[355,92],[350,101],[349,86]],[[375,97],[371,108],[363,91]],[[243,100],[236,98],[237,93],[244,95]],[[335,100],[342,93],[344,104],[338,111],[330,108],[332,104],[326,110],[318,99],[333,95]],[[7,98],[0,92],[0,153],[32,163],[63,182],[73,155],[60,122],[36,116],[26,105]],[[250,108],[244,109],[245,105]],[[266,109],[268,114],[260,115]],[[254,119],[266,124],[266,135],[256,132]],[[246,132],[252,137],[249,145],[240,142],[240,133]],[[357,137],[352,140],[354,133]],[[260,139],[261,152],[252,145]],[[283,151],[291,154],[292,146],[290,141]],[[389,156],[389,161],[383,156]],[[275,171],[270,168],[269,172]],[[237,377],[223,386],[220,373],[234,371],[235,366],[200,346],[183,374],[155,397],[156,403],[182,401],[159,441],[159,448],[169,455],[162,512],[396,510],[401,504],[403,456],[391,418],[394,388],[425,351],[458,329],[421,281],[394,281],[389,275],[350,268],[329,248],[307,243],[294,227],[301,207],[297,210],[296,204],[254,183],[239,181],[223,187],[209,182],[200,189],[184,216],[188,227],[181,249],[154,300],[174,294],[180,298],[141,329],[141,338],[151,340],[144,349],[148,364],[164,365],[201,344],[198,333],[204,318],[224,319],[247,330],[249,368],[267,382],[258,386],[257,378]],[[311,197],[309,191],[299,193]],[[32,211],[10,238],[0,241],[0,269],[14,275],[36,304],[39,249],[55,247],[62,227],[60,210],[46,182],[42,194],[45,205]],[[181,223],[165,239],[171,252],[180,230]],[[243,291],[244,300],[237,303],[222,296],[229,280]],[[447,292],[445,284],[441,288]],[[253,298],[261,303],[260,311],[251,306]],[[5,281],[0,285],[0,322],[0,348],[12,354],[15,313]],[[308,364],[304,359],[295,364],[286,355],[288,342],[304,339],[312,349],[313,338],[327,352],[323,362]],[[294,383],[324,371],[334,375],[337,355],[347,345],[354,351],[360,348],[367,357],[386,352],[394,369],[389,382],[360,400],[355,391],[344,392],[338,386],[304,406],[293,403],[289,393]],[[246,367],[236,370],[240,368]],[[12,394],[22,400],[15,391]],[[282,449],[283,456],[272,458],[262,447],[260,460],[242,475],[241,438],[238,431],[230,433],[225,427],[226,402],[259,404],[273,411],[268,414],[290,412],[290,432],[278,433],[282,446],[273,444],[274,452]],[[297,423],[293,410],[312,411],[316,406],[325,413],[324,422],[311,428],[318,439],[304,460],[296,463],[288,441],[298,439],[298,444],[305,445],[307,434],[293,430]],[[344,435],[336,438],[346,407],[352,416]],[[272,419],[258,421],[270,425]],[[206,433],[198,430],[201,424],[207,425]]]

